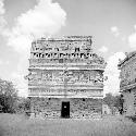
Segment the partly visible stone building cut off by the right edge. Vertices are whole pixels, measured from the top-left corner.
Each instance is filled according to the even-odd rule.
[[[123,95],[123,111],[125,115],[136,114],[136,51],[126,53],[119,63],[120,90]]]

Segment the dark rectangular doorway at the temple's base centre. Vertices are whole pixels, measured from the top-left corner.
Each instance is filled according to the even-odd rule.
[[[70,101],[63,101],[61,107],[61,118],[70,118]]]

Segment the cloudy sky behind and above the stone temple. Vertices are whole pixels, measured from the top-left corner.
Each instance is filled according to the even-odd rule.
[[[119,59],[136,49],[136,0],[0,0],[0,77],[27,94],[30,41],[90,35],[108,62],[104,94],[119,91]]]

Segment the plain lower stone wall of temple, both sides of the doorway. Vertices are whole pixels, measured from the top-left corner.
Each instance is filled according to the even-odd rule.
[[[70,103],[66,114],[71,119],[99,118],[102,113],[102,99],[92,98],[30,98],[30,112],[35,118],[59,119],[65,114],[62,103]],[[63,107],[63,108],[62,108]]]

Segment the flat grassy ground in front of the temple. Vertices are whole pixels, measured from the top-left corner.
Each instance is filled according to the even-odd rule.
[[[136,124],[121,118],[102,120],[28,120],[0,114],[0,136],[136,136]]]

